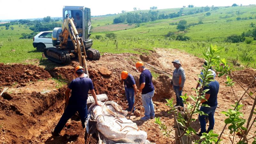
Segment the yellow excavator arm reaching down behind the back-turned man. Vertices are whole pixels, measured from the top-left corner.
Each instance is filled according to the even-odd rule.
[[[79,60],[80,66],[82,66],[85,69],[85,73],[87,74],[87,77],[89,77],[87,63],[86,63],[87,56],[86,56],[83,39],[78,36],[78,32],[73,22],[73,18],[69,18],[67,16],[67,18],[63,22],[62,32],[60,33],[60,44],[56,45],[56,48],[65,49],[68,45],[68,36],[70,37],[73,43],[75,52],[78,54],[78,60]]]

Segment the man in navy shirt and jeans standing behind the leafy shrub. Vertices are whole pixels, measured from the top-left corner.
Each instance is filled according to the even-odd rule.
[[[213,75],[213,74],[212,74]],[[201,125],[201,132],[199,132],[199,136],[202,136],[202,133],[206,132],[208,133],[210,130],[213,130],[214,127],[214,113],[215,109],[217,108],[218,101],[217,101],[217,95],[219,92],[220,84],[218,81],[213,81],[210,82],[207,86],[204,86],[204,90],[209,89],[209,91],[205,92],[205,100],[201,100],[202,104],[207,104],[210,107],[204,107],[201,106],[200,110],[203,111],[204,113],[208,114],[208,119],[209,119],[209,127],[208,130],[206,131],[206,122],[205,118],[206,115],[199,115],[198,119],[200,121]],[[207,101],[206,101],[207,100]]]

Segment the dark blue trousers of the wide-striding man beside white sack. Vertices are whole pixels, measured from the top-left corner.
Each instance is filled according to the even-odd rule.
[[[60,133],[63,129],[69,118],[73,116],[78,111],[79,117],[82,121],[83,128],[85,127],[85,120],[87,118],[87,104],[84,105],[75,105],[75,104],[68,104],[67,108],[65,109],[63,115],[60,118],[59,123],[56,125],[54,129],[54,133]]]

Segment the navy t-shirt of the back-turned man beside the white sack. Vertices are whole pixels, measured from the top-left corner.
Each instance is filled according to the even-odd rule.
[[[70,104],[86,104],[88,92],[93,89],[93,84],[90,78],[77,77],[72,80],[68,88],[72,90],[69,98]]]

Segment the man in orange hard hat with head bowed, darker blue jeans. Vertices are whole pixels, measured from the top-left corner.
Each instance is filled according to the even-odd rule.
[[[135,80],[131,74],[127,71],[122,71],[121,73],[121,84],[124,82],[124,90],[126,99],[128,101],[128,108],[125,110],[131,111],[134,104],[134,95],[137,94],[137,86],[135,84]],[[134,113],[135,107],[132,110]]]

